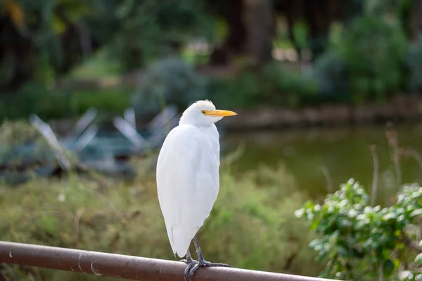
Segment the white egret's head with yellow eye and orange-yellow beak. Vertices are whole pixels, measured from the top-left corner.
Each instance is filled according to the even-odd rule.
[[[179,124],[191,124],[196,126],[210,126],[223,117],[236,115],[233,111],[215,109],[211,101],[196,101],[186,108],[181,115]]]

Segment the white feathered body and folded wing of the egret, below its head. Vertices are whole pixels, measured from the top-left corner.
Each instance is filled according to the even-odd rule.
[[[160,150],[157,187],[174,254],[184,256],[210,215],[219,189],[218,159],[203,132],[175,127]]]

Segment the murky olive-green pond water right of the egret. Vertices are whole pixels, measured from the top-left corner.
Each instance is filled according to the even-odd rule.
[[[422,124],[394,127],[399,146],[422,155]],[[236,132],[224,135],[226,151],[243,145],[233,165],[237,171],[283,163],[296,185],[316,199],[353,177],[370,192],[376,144],[379,158],[378,204],[388,205],[397,192],[397,177],[386,127],[312,128],[289,131]],[[417,157],[416,157],[417,158]],[[422,184],[422,167],[414,156],[399,162],[402,183]]]

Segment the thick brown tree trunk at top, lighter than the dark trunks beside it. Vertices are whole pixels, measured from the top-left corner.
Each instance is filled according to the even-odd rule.
[[[272,0],[243,0],[247,26],[248,55],[252,64],[260,68],[271,61],[274,23]]]

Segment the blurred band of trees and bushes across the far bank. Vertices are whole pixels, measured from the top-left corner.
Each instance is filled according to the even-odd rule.
[[[158,93],[182,108],[205,95],[295,107],[382,103],[422,87],[418,0],[0,5],[0,118],[143,112]]]

